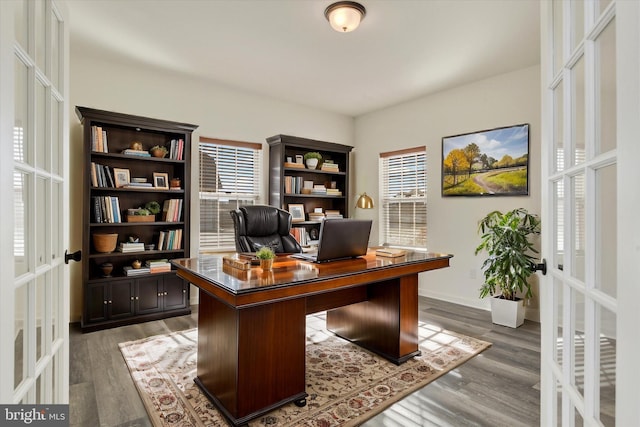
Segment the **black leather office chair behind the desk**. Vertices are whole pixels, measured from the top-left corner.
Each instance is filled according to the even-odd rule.
[[[291,235],[291,214],[273,206],[243,206],[230,212],[236,251],[256,252],[269,246],[276,253],[298,253],[302,247]]]

